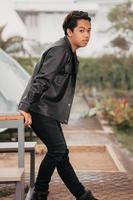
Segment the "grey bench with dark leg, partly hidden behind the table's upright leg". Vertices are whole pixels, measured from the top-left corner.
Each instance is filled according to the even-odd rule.
[[[30,187],[35,181],[35,146],[36,142],[25,142],[24,149],[30,152]],[[18,151],[18,142],[0,142],[0,153],[11,153]]]

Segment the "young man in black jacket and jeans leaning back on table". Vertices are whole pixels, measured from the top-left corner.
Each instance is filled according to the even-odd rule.
[[[69,150],[61,123],[68,123],[76,86],[76,50],[89,42],[91,19],[82,11],[70,12],[63,23],[65,37],[42,55],[19,103],[25,125],[46,145],[35,182],[32,200],[46,200],[51,176],[57,169],[61,179],[77,200],[96,200],[78,180],[69,162]]]

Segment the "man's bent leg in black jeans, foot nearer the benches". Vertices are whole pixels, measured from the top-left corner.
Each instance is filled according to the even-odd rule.
[[[66,144],[56,120],[37,113],[31,114],[32,128],[48,149],[39,167],[35,190],[47,192],[54,169],[65,153]]]

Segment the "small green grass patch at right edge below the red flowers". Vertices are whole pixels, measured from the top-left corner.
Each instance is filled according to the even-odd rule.
[[[114,133],[118,142],[120,142],[123,147],[133,152],[133,128],[125,130],[114,128]]]

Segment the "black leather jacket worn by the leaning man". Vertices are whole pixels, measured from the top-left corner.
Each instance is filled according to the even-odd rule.
[[[78,72],[78,59],[65,36],[42,55],[22,95],[18,109],[68,123]]]

